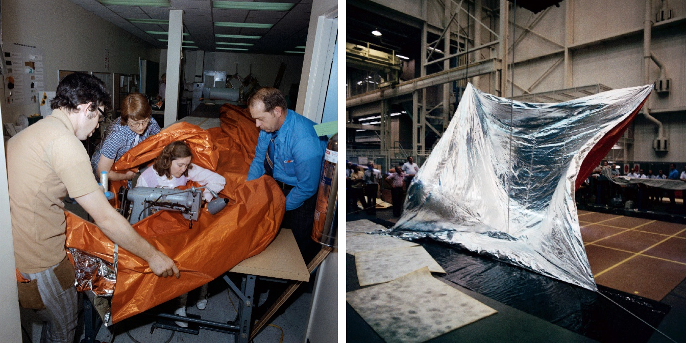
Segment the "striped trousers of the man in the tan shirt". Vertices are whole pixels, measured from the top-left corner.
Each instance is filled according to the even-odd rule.
[[[40,298],[45,305],[44,309],[36,310],[36,314],[47,322],[47,330],[43,330],[40,343],[74,341],[78,319],[78,296],[73,285],[67,290],[62,289],[53,272],[56,267],[57,265],[53,265],[43,272],[34,274],[21,273],[29,280],[36,279]]]

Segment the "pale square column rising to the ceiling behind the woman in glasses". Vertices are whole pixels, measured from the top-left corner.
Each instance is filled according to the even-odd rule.
[[[165,95],[165,128],[178,117],[178,93],[181,80],[181,45],[183,40],[183,11],[169,10],[167,41],[167,90]]]

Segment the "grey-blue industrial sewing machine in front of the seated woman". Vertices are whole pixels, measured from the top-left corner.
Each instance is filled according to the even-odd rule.
[[[187,220],[198,220],[202,191],[195,187],[189,189],[165,189],[152,187],[136,187],[134,189],[119,189],[119,213],[129,219],[131,224],[137,223],[148,215],[160,210],[179,211]]]

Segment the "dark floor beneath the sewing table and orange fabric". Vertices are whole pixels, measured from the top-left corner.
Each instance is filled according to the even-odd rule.
[[[86,213],[77,204],[67,204],[67,210],[86,217]],[[195,291],[197,292],[197,291]],[[201,316],[204,320],[214,320],[218,322],[227,322],[235,320],[237,311],[236,305],[239,303],[238,296],[226,285],[221,279],[212,281],[209,284],[209,299],[206,309],[200,311],[195,307],[195,300],[197,298],[195,292],[189,293],[187,303],[187,313]],[[273,293],[273,292],[270,292]],[[256,294],[256,296],[258,296]],[[269,294],[270,299],[275,299],[279,294]],[[265,327],[255,337],[255,343],[267,342],[281,342],[280,339],[283,334],[283,343],[300,343],[305,338],[305,330],[307,327],[307,317],[309,314],[309,307],[311,303],[311,291],[307,287],[300,287],[298,291],[289,299],[283,307],[276,312],[272,317],[272,322],[268,327]],[[270,300],[271,301],[271,300]],[[79,296],[79,305],[81,306],[82,299]],[[174,313],[173,308],[169,308],[169,304],[160,305],[165,312],[169,314]],[[23,327],[23,342],[36,343],[40,341],[40,333],[43,328],[43,323],[40,318],[36,316],[33,310],[21,310],[21,324]],[[255,317],[255,316],[254,316]],[[96,339],[102,343],[163,343],[163,342],[236,342],[235,336],[201,329],[198,335],[191,333],[173,332],[165,329],[155,329],[152,333],[151,327],[154,324],[155,318],[139,314],[128,318],[110,328],[102,325],[99,329]],[[173,336],[172,336],[173,335]],[[79,324],[76,329],[76,336],[80,337],[75,342],[80,342],[84,336],[84,319],[83,315],[79,316]],[[1,339],[0,339],[1,341]]]

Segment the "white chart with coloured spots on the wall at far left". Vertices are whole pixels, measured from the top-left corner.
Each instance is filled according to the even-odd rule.
[[[43,51],[32,45],[20,43],[12,43],[5,47],[5,104],[38,105],[40,95],[45,91]]]

